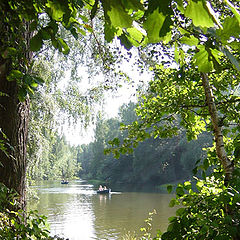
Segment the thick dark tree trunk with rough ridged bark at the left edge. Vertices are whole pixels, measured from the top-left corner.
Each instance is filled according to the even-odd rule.
[[[19,54],[19,62],[15,63],[14,66],[12,66],[11,57],[4,58],[0,55],[0,139],[4,141],[6,147],[6,151],[0,149],[0,182],[19,193],[20,207],[24,209],[30,103],[28,98],[24,102],[19,101],[18,91],[21,83],[8,81],[7,76],[13,68],[24,72],[23,66],[26,62],[30,63],[29,39],[31,32],[29,31],[29,23],[25,21],[22,21],[21,28],[16,26],[15,35],[17,36],[18,33],[19,38],[15,38],[14,41],[11,31],[13,30],[7,22],[0,22],[1,51],[5,51],[5,54],[7,47],[10,46],[16,48]],[[8,140],[2,133],[7,136]]]

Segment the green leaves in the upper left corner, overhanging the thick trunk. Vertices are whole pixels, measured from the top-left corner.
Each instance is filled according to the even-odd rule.
[[[8,71],[7,80],[16,81],[20,101],[43,83],[32,72],[32,51],[38,52],[50,44],[68,54],[70,48],[60,30],[65,28],[76,39],[78,34],[85,34],[88,19],[80,14],[84,5],[83,1],[1,2],[1,65]]]

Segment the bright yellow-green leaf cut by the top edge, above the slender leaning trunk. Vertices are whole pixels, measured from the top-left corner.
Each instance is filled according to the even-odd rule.
[[[214,27],[212,15],[208,11],[204,0],[190,0],[184,14],[191,18],[193,24],[197,27]]]

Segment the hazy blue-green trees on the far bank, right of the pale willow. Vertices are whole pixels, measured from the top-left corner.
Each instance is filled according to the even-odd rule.
[[[172,138],[149,138],[139,143],[132,154],[121,154],[119,159],[104,154],[109,141],[126,137],[120,125],[137,120],[134,109],[135,104],[130,102],[120,107],[119,118],[98,118],[94,142],[82,145],[78,154],[82,166],[79,176],[136,189],[189,179],[195,162],[204,158],[201,149],[212,143],[207,133],[191,142],[187,141],[184,131]]]

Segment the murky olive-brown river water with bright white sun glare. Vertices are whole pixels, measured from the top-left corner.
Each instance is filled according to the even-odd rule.
[[[48,217],[51,235],[69,240],[123,239],[129,233],[140,236],[146,227],[148,213],[153,215],[153,233],[166,230],[168,217],[176,209],[169,208],[172,195],[143,192],[113,192],[99,195],[93,185],[82,180],[60,184],[44,181],[34,186],[39,201],[29,203],[29,209]]]

